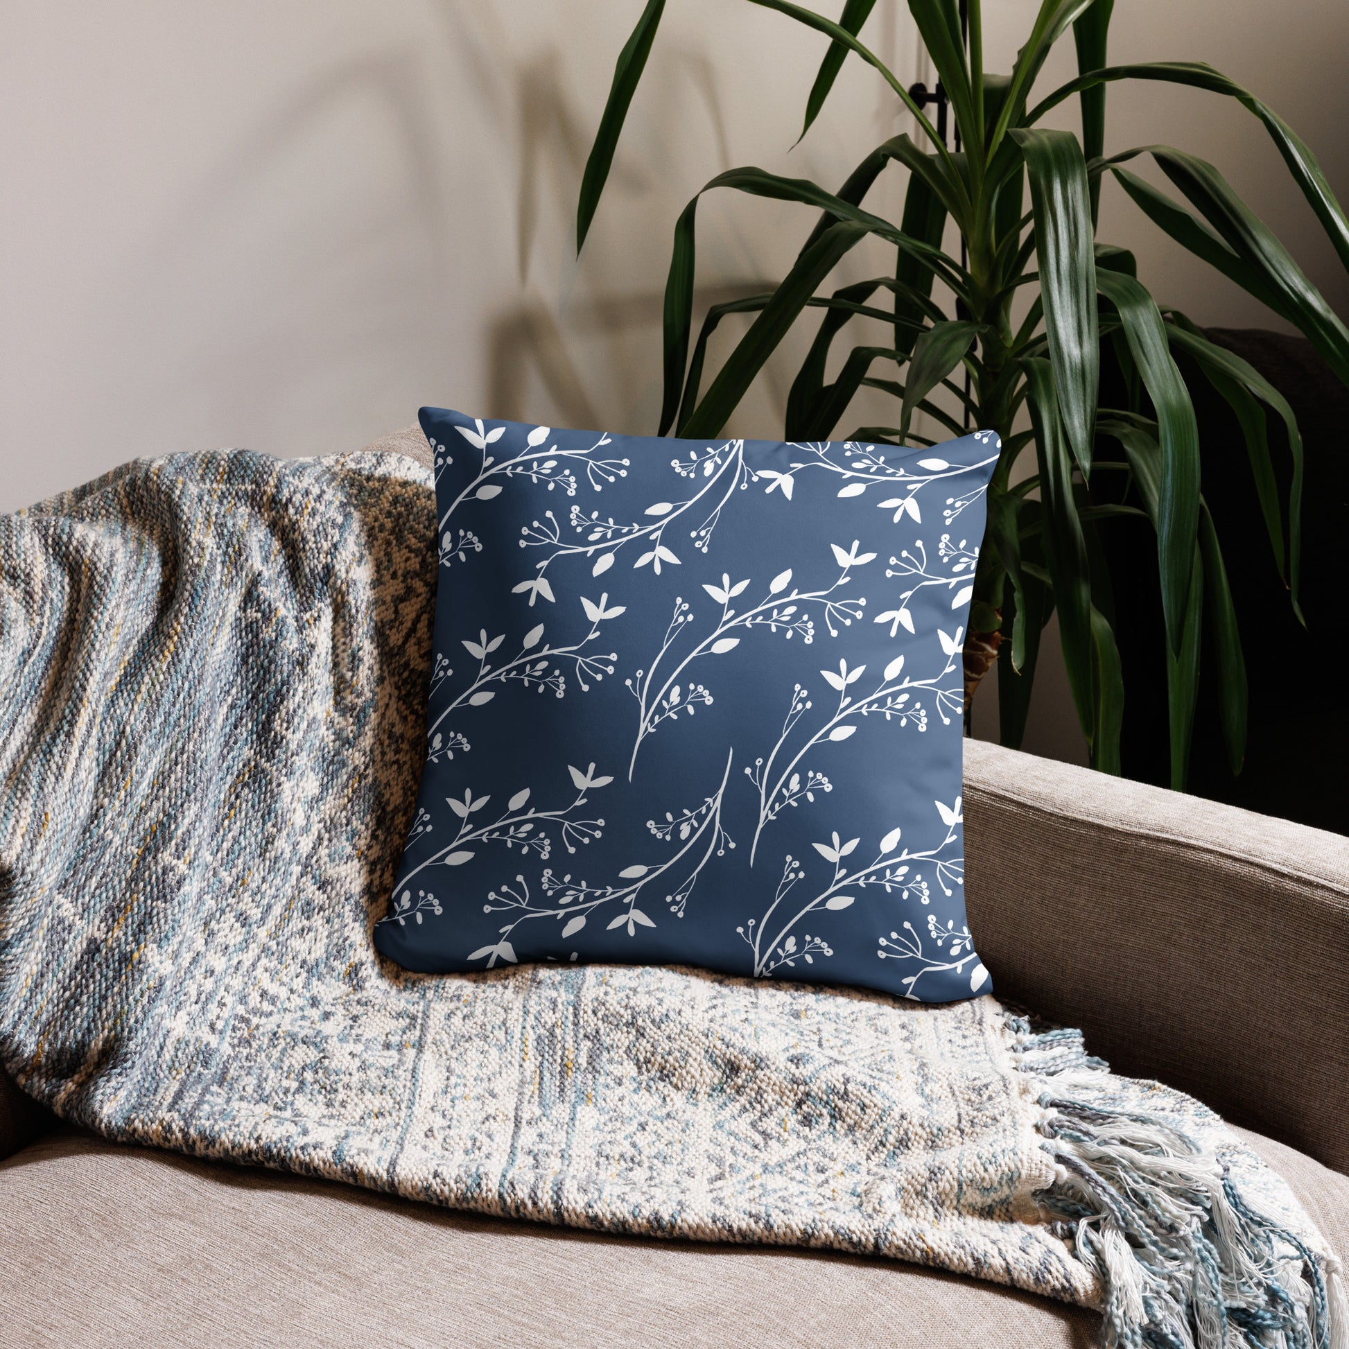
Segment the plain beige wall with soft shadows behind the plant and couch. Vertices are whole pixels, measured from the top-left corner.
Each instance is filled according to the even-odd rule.
[[[908,123],[850,62],[788,152],[820,39],[734,0],[670,0],[577,263],[580,169],[639,8],[3,0],[0,510],[138,455],[355,447],[424,402],[653,429],[684,201],[734,163],[836,183]],[[985,4],[992,67],[1009,67],[1035,8]],[[1344,0],[1118,0],[1114,28],[1116,59],[1209,59],[1248,82],[1349,196]],[[901,77],[927,73],[907,12],[882,4],[867,36]],[[1066,77],[1070,47],[1051,74]],[[1110,100],[1109,148],[1166,140],[1215,159],[1349,312],[1344,271],[1252,117],[1156,85]],[[700,219],[707,297],[773,275],[808,228],[743,198],[710,198]],[[1105,231],[1195,318],[1271,321],[1117,193]],[[734,429],[774,434],[789,378],[777,363]],[[1036,743],[1075,754],[1062,692],[1043,693]]]

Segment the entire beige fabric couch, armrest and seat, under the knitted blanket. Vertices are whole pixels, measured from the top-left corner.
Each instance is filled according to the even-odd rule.
[[[970,743],[998,993],[1207,1101],[1349,1256],[1349,840]],[[1246,1132],[1257,1130],[1257,1132]],[[0,1345],[1097,1342],[880,1260],[492,1222],[61,1128],[0,1078]]]

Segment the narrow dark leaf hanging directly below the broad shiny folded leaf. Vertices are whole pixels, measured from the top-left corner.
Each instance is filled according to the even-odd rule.
[[[1093,696],[1091,575],[1086,540],[1072,498],[1072,456],[1054,389],[1050,362],[1021,362],[1029,390],[1031,421],[1040,468],[1040,500],[1045,514],[1044,557],[1054,580],[1054,600],[1059,610],[1059,635],[1068,688],[1078,720],[1091,743],[1095,737]]]

